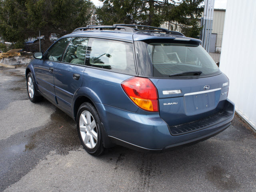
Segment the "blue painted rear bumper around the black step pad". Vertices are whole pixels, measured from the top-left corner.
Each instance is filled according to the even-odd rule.
[[[230,116],[200,130],[174,136],[158,113],[128,112],[112,106],[97,104],[96,108],[111,141],[141,152],[163,152],[178,146],[206,140],[228,128],[234,118],[234,104],[227,100]],[[102,108],[102,110],[99,110]]]

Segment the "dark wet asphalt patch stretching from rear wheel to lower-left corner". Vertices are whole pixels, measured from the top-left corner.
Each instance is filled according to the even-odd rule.
[[[0,191],[17,182],[51,151],[54,151],[52,154],[67,155],[71,150],[79,150],[82,146],[76,123],[68,115],[56,108],[48,120],[44,126],[24,130],[2,140]]]

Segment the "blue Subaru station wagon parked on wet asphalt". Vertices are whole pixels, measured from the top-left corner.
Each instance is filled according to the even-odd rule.
[[[194,144],[234,117],[229,80],[200,43],[151,26],[77,28],[34,53],[28,96],[73,118],[95,156],[115,144],[142,152]]]

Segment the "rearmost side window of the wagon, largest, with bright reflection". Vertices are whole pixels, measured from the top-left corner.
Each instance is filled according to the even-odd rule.
[[[86,65],[136,74],[132,43],[90,38]]]

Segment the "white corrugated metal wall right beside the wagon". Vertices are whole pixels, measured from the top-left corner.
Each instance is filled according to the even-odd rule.
[[[228,0],[220,70],[230,80],[228,98],[256,129],[256,0]]]

